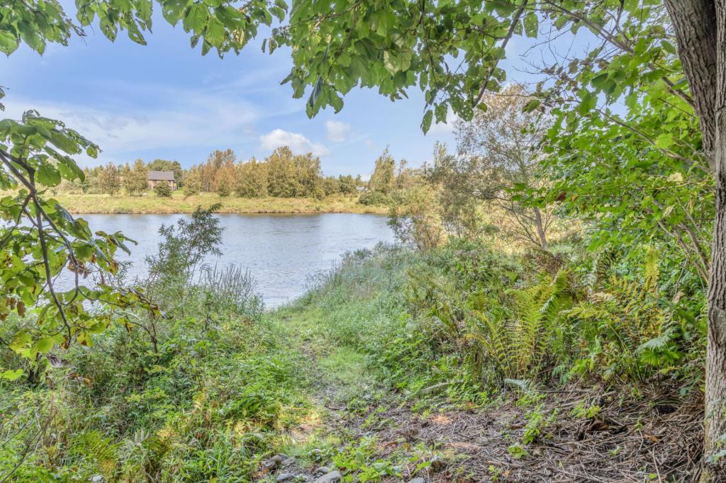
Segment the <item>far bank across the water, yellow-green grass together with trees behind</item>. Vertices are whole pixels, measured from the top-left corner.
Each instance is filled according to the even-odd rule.
[[[174,203],[144,199],[150,194],[166,199],[174,195],[164,183],[148,188],[150,170],[174,171],[184,199],[175,197]],[[84,170],[83,179],[60,181],[52,191],[74,213],[192,212],[207,200],[212,204],[214,198],[226,199],[225,212],[386,212],[388,198],[378,196],[378,188],[368,184],[360,176],[322,176],[317,157],[295,155],[281,147],[262,162],[254,158],[238,162],[231,149],[218,150],[205,164],[189,170],[181,168],[178,161],[167,160],[148,165],[136,160],[133,167],[107,163]],[[355,206],[359,189],[364,189],[360,202],[368,207]],[[371,197],[370,193],[376,195]]]

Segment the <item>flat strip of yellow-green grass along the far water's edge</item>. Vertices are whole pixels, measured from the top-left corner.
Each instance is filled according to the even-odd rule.
[[[185,198],[174,193],[171,198],[153,194],[145,197],[107,194],[58,194],[55,196],[68,211],[78,214],[191,213],[195,207],[221,203],[221,213],[386,213],[385,206],[359,205],[357,196],[333,195],[322,200],[313,198],[221,198],[216,194],[198,194]]]

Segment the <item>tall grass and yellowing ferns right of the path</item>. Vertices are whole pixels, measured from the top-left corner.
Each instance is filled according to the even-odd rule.
[[[478,397],[507,380],[556,386],[578,378],[696,387],[699,286],[667,284],[657,265],[668,268],[668,260],[652,249],[640,264],[606,266],[577,246],[553,249],[560,255],[503,255],[484,241],[425,253],[379,246],[319,276],[307,302],[331,337],[412,392],[444,384]]]

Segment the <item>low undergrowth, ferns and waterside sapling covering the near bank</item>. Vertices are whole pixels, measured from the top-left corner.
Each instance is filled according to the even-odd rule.
[[[129,314],[91,350],[51,352],[37,381],[3,383],[2,471],[20,463],[15,479],[34,482],[274,481],[282,470],[264,479],[264,463],[285,453],[297,474],[334,467],[352,482],[480,481],[476,468],[492,464],[487,473],[517,481],[537,468],[515,461],[555,458],[558,474],[551,452],[563,444],[579,458],[563,475],[614,477],[637,465],[634,478],[688,480],[696,471],[674,445],[684,442],[677,428],[697,437],[698,413],[669,418],[649,395],[668,394],[671,405],[698,397],[705,300],[682,286],[679,302],[650,310],[652,297],[672,293],[653,265],[670,264],[652,251],[624,271],[559,241],[552,248],[566,256],[552,274],[486,241],[381,246],[349,254],[301,300],[263,313],[242,273],[192,283],[200,255],[218,246],[207,214],[163,229],[147,286],[164,316]],[[604,387],[619,396],[603,397]],[[636,413],[624,410],[632,405]],[[492,414],[494,437],[473,445],[468,428]],[[609,430],[608,447],[629,448],[627,458],[588,459],[592,443],[577,434],[610,418],[632,429]],[[638,428],[656,421],[661,442],[639,450]],[[434,437],[412,444],[407,431]],[[43,444],[26,455],[38,434]]]

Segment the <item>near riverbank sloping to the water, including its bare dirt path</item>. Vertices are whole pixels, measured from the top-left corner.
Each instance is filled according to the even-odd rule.
[[[268,312],[247,292],[187,287],[167,319],[139,313],[90,350],[54,351],[47,384],[0,381],[0,475],[20,461],[17,482],[697,481],[703,405],[688,355],[672,377],[640,366],[635,380],[602,331],[609,366],[600,352],[586,371],[547,340],[519,346],[523,323],[558,337],[540,315],[566,305],[558,291],[574,292],[544,272],[515,289],[534,266],[524,263],[471,244],[359,250]],[[176,300],[174,288],[160,295]],[[527,293],[544,294],[544,309]],[[470,294],[478,300],[457,307]],[[534,322],[519,313],[528,303]],[[568,329],[566,350],[587,343],[582,325]],[[550,359],[533,362],[539,354]],[[531,376],[522,361],[556,377]],[[31,437],[42,444],[26,455]]]

